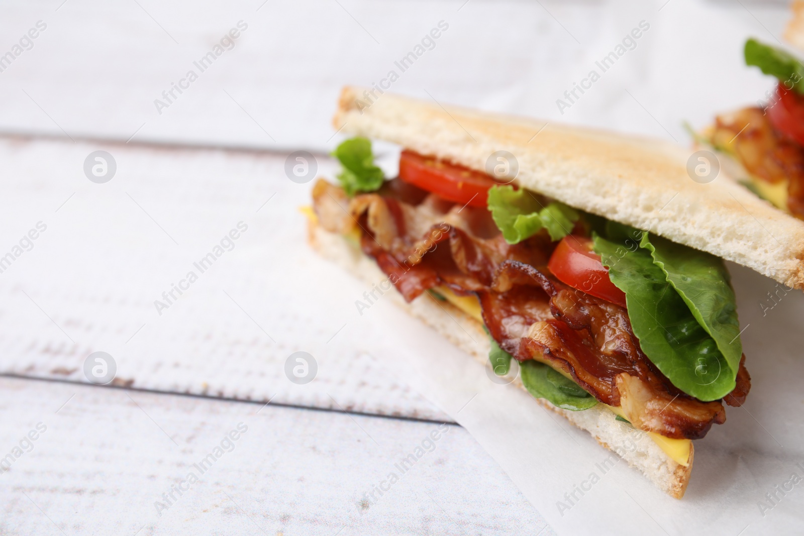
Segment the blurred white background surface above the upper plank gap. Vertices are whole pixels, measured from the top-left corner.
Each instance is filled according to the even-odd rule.
[[[121,141],[325,150],[344,84],[686,143],[682,121],[755,102],[773,82],[745,68],[749,35],[775,43],[788,2],[254,0],[3,2],[4,49],[47,29],[0,73],[0,130]],[[443,21],[443,22],[442,22]],[[556,100],[632,29],[650,29],[561,113]],[[425,35],[448,27],[405,72]],[[247,27],[207,70],[199,61]],[[166,102],[188,71],[198,79]],[[600,69],[597,69],[600,71]],[[627,89],[627,92],[626,92]]]

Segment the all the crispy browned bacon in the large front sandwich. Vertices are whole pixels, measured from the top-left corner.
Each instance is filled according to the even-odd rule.
[[[713,423],[725,421],[720,401],[684,394],[646,358],[625,308],[550,274],[554,245],[545,233],[511,245],[496,227],[490,231],[487,211],[416,196],[409,189],[401,198],[393,182],[384,186],[384,195],[351,200],[333,190],[340,189],[314,188],[322,225],[359,228],[363,252],[376,260],[405,300],[439,285],[476,295],[486,327],[503,350],[519,361],[536,359],[563,370],[601,403],[622,407],[642,430],[698,439]],[[415,201],[408,203],[411,198]],[[324,223],[325,218],[334,221]],[[750,389],[744,362],[745,356],[737,387],[726,399],[730,405],[742,403]]]

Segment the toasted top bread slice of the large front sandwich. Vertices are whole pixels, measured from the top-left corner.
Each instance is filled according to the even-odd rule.
[[[519,186],[804,289],[804,222],[723,170],[713,182],[693,181],[692,151],[679,145],[355,87],[343,88],[333,123],[480,171],[492,153],[508,151]]]

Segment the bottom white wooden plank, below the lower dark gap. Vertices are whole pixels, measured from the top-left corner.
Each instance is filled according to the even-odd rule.
[[[0,422],[0,534],[552,534],[456,425],[18,378]]]

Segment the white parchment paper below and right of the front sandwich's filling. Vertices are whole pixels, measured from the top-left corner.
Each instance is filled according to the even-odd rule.
[[[383,309],[364,333],[379,339],[376,355],[472,433],[557,534],[797,534],[804,522],[804,295],[729,268],[752,389],[744,407],[727,407],[726,423],[695,441],[680,501],[625,462],[601,470],[610,452],[586,432],[512,384],[490,382],[474,360],[404,313]],[[591,489],[565,497],[582,484]]]

